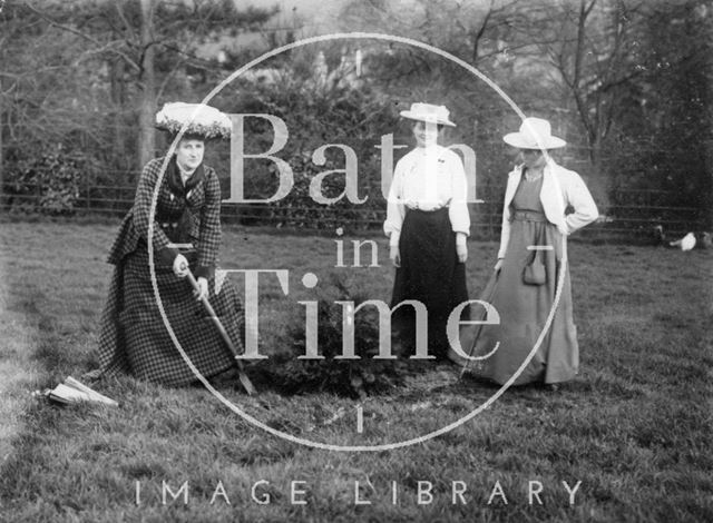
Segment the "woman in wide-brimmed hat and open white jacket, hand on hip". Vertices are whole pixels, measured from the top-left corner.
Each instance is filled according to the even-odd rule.
[[[559,303],[555,304],[563,235],[596,220],[597,207],[579,175],[557,165],[546,152],[566,145],[551,136],[547,120],[526,118],[519,131],[506,135],[504,140],[520,150],[522,164],[509,174],[505,193],[495,266],[499,274],[490,298],[500,323],[481,327],[471,354],[482,359],[468,366],[480,377],[505,384],[535,347],[556,305],[541,345],[514,382],[541,382],[556,388],[557,383],[572,379],[579,367],[568,267]],[[565,214],[568,207],[574,211]],[[541,269],[537,278],[533,277],[535,265]]]

